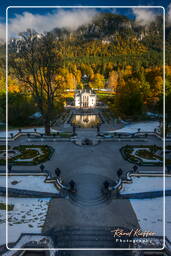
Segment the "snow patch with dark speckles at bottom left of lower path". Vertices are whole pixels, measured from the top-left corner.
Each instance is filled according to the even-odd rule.
[[[8,211],[8,242],[16,242],[21,233],[41,233],[45,222],[50,199],[9,198],[8,204],[14,205]],[[5,203],[5,197],[0,197]],[[6,211],[0,210],[0,245],[5,244]]]

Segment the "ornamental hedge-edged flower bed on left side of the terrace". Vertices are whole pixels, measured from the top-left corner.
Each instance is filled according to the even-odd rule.
[[[9,164],[37,165],[50,160],[54,149],[47,145],[20,145],[13,148],[17,155],[8,159]],[[0,164],[5,164],[5,159],[0,159]]]

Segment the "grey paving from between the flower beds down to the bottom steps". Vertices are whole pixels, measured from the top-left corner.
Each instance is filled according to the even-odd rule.
[[[95,130],[91,129],[87,130],[87,133],[82,129],[77,132],[78,136],[83,138],[95,136]],[[127,172],[133,166],[133,164],[123,159],[120,148],[125,144],[139,145],[141,142],[103,141],[96,146],[78,146],[72,142],[53,142],[53,144],[48,141],[28,142],[26,136],[21,136],[9,144],[11,146],[21,144],[47,144],[54,147],[55,152],[52,158],[45,162],[45,168],[52,174],[54,174],[55,168],[60,168],[65,183],[68,183],[71,179],[76,181],[78,198],[68,197],[66,199],[51,200],[43,228],[44,232],[54,235],[58,234],[59,229],[69,227],[71,233],[77,236],[79,241],[79,233],[73,233],[78,232],[77,230],[73,231],[73,227],[83,227],[81,230],[82,236],[85,232],[85,226],[91,227],[91,232],[99,228],[97,240],[100,235],[99,232],[104,231],[105,228],[110,233],[110,230],[116,226],[129,229],[139,227],[130,201],[128,199],[104,200],[101,197],[101,187],[105,180],[116,180],[116,171],[118,168],[122,168],[124,172]],[[162,146],[162,141],[150,136],[142,144]],[[5,170],[5,166],[1,166],[0,169]],[[24,170],[28,172],[32,170],[36,172],[36,170],[40,169],[39,166],[13,166],[13,170]],[[142,166],[139,167],[139,170],[162,171],[162,167]],[[64,233],[63,236],[65,236],[64,241],[68,241],[68,235]],[[68,246],[77,247],[78,241],[73,240],[72,235],[70,238],[72,243],[68,243]],[[90,247],[92,244],[86,241],[84,240],[82,246]],[[102,241],[102,244],[105,245],[104,241]],[[56,242],[57,247],[60,247],[60,245],[59,242]],[[108,243],[106,243],[106,247],[107,245]],[[98,243],[95,243],[95,246],[98,247]],[[99,246],[101,245],[99,244]]]

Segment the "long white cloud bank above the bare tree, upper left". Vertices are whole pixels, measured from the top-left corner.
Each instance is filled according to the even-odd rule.
[[[81,25],[91,23],[96,15],[97,11],[95,9],[63,9],[46,15],[23,12],[9,19],[9,35],[15,36],[28,28],[39,33],[54,28],[76,30]],[[5,24],[0,24],[0,39],[5,39]]]

